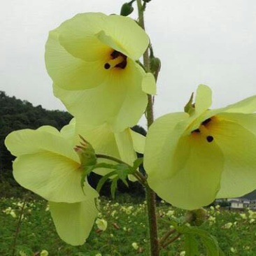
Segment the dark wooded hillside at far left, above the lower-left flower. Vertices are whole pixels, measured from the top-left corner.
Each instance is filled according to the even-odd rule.
[[[48,111],[41,105],[33,106],[29,101],[22,101],[15,97],[8,97],[0,91],[0,172],[1,177],[8,176],[12,169],[14,157],[4,145],[4,139],[11,132],[18,129],[37,129],[42,125],[51,125],[62,129],[72,116],[64,111]]]

